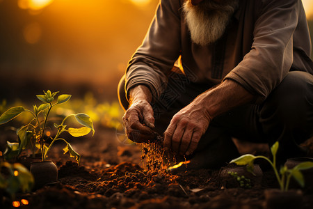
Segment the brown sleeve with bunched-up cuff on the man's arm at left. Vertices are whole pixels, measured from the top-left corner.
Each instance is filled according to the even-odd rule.
[[[162,0],[147,31],[143,44],[138,47],[127,67],[125,92],[143,84],[150,88],[153,98],[159,98],[167,84],[166,74],[179,56],[180,1]]]

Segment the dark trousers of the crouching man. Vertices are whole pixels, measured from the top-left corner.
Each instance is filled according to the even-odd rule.
[[[184,75],[173,73],[166,91],[156,100],[154,118],[160,134],[168,127],[172,116],[189,104],[211,84],[189,82]],[[118,87],[120,104],[127,109],[125,81]],[[313,136],[313,76],[307,72],[289,72],[262,104],[246,104],[214,118],[200,139],[195,158],[212,159],[210,165],[220,166],[238,155],[231,137],[269,146],[280,141],[278,160],[303,157],[301,146]]]

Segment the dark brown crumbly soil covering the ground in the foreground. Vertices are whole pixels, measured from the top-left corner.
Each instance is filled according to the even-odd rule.
[[[29,201],[20,208],[266,208],[264,190],[278,187],[271,169],[250,187],[225,185],[220,170],[148,171],[142,154],[149,150],[122,143],[115,130],[99,128],[94,137],[70,143],[81,154],[80,165],[56,144],[49,160],[58,167],[58,182],[18,193],[17,200]],[[302,190],[303,208],[312,208],[312,187]],[[1,206],[11,207],[9,201]]]

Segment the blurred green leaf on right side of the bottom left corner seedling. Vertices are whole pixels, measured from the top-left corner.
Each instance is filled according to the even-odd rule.
[[[22,192],[30,192],[34,185],[33,175],[22,164],[15,163],[13,168],[18,171],[17,178]]]

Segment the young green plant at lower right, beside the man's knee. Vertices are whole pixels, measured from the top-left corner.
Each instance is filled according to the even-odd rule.
[[[271,164],[271,167],[273,167],[275,176],[278,180],[278,184],[280,185],[280,189],[282,191],[288,190],[291,176],[294,177],[294,179],[299,183],[301,187],[304,187],[305,180],[303,178],[303,174],[301,173],[301,170],[313,168],[313,162],[302,162],[292,169],[288,169],[284,165],[283,167],[281,167],[280,173],[278,173],[278,169],[276,168],[276,154],[277,154],[278,147],[279,147],[278,141],[276,141],[275,144],[273,144],[273,146],[271,147],[273,161],[269,160],[268,157],[264,157],[262,155],[255,156],[255,155],[247,154],[247,155],[242,155],[241,157],[238,157],[232,160],[230,163],[234,162],[237,165],[247,165],[247,170],[250,172],[253,172],[253,163],[255,159],[261,158],[269,162],[269,164]]]

